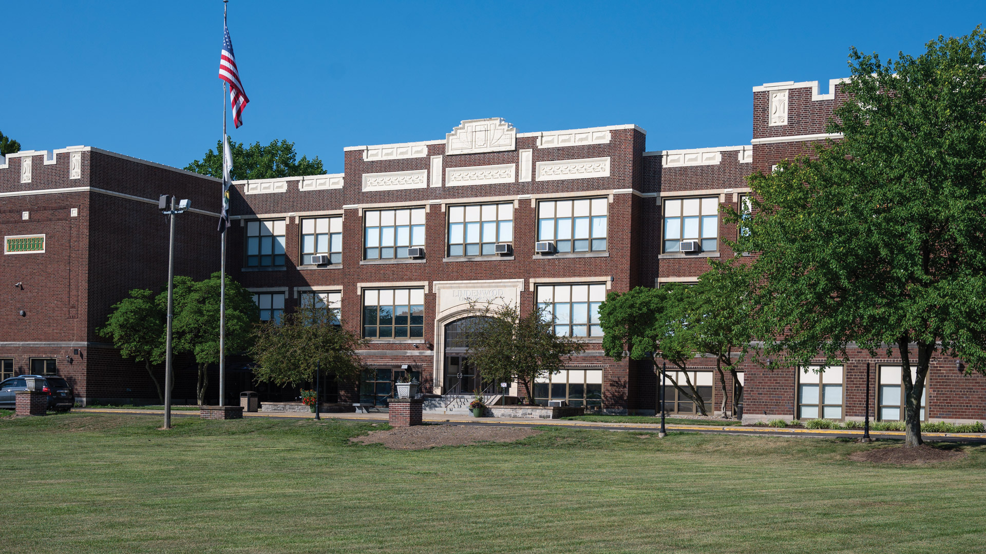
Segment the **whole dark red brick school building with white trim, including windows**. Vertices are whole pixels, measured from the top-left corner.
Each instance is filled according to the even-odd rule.
[[[808,152],[812,141],[838,138],[825,134],[825,124],[842,100],[840,82],[831,81],[827,94],[820,93],[816,82],[755,87],[752,140],[733,147],[648,152],[646,132],[635,125],[522,133],[500,118],[462,121],[439,140],[348,147],[343,173],[237,182],[227,267],[254,293],[262,318],[277,318],[303,302],[323,303],[338,309],[343,323],[368,339],[369,346],[360,353],[369,368],[362,381],[329,390],[327,399],[386,404],[393,381],[406,372],[419,377],[429,392],[470,390],[475,377],[468,353],[457,341],[462,321],[475,315],[470,304],[516,303],[523,311],[539,304],[555,314],[558,332],[585,337],[586,350],[566,371],[537,384],[538,402],[565,398],[610,413],[652,414],[658,407],[655,372],[649,364],[614,362],[603,355],[597,304],[608,291],[694,282],[706,270],[707,258],[732,256],[720,239],[735,238],[737,230],[723,223],[720,207],[740,207],[749,193],[748,174],[769,172],[778,161]],[[67,180],[75,171],[69,158],[77,151],[82,176],[72,178],[94,184],[85,191],[62,192],[83,184]],[[28,156],[40,166],[37,174],[46,175],[39,178],[48,180],[26,183],[19,178],[20,161]],[[117,368],[128,366],[112,359],[111,349],[99,343],[92,329],[127,289],[160,287],[161,258],[120,261],[140,251],[163,252],[164,219],[147,204],[159,193],[186,190],[192,205],[204,210],[181,221],[187,230],[184,241],[199,246],[185,249],[194,255],[184,259],[184,272],[214,270],[218,238],[211,212],[218,208],[217,187],[207,177],[96,149],[67,149],[53,156],[49,163],[43,153],[21,153],[0,167],[4,235],[47,233],[50,238],[50,249],[5,255],[0,268],[5,276],[21,271],[34,275],[38,284],[50,279],[47,283],[65,283],[69,291],[81,288],[67,312],[75,306],[86,313],[87,323],[80,323],[71,339],[66,333],[74,327],[53,318],[38,317],[32,329],[30,316],[11,315],[19,310],[15,304],[32,299],[52,303],[52,310],[65,309],[43,291],[33,296],[27,289],[0,288],[6,290],[0,293],[5,308],[0,331],[9,329],[17,337],[0,342],[0,359],[14,359],[20,372],[40,355],[37,348],[75,348],[36,346],[38,341],[85,342],[94,356],[104,358],[66,366],[61,361],[70,354],[51,350],[59,373],[91,383],[80,396],[120,397],[121,387],[132,386],[134,396],[139,388],[150,397],[149,381],[132,367],[125,380],[106,377],[123,375]],[[90,169],[92,160],[101,162],[101,172]],[[141,173],[139,185],[131,176],[136,173]],[[155,175],[154,186],[144,173]],[[110,182],[116,188],[106,184]],[[172,188],[162,190],[165,184]],[[40,190],[47,188],[59,192]],[[208,198],[196,195],[203,191],[213,192],[205,194]],[[71,194],[83,198],[78,200],[79,214],[86,216],[74,220],[80,229],[73,232],[85,234],[92,248],[73,251],[86,261],[75,259],[78,277],[69,282],[61,269],[66,248],[59,246],[59,257],[52,254],[54,238],[74,229],[67,215],[70,201],[75,201]],[[106,225],[106,233],[122,238],[123,244],[90,238],[93,198],[106,205],[95,220],[97,227]],[[44,206],[48,219],[18,219],[29,204]],[[138,231],[132,220],[140,210],[146,216],[137,219],[146,229]],[[131,247],[130,240],[147,243]],[[89,259],[95,255],[102,259]],[[147,270],[138,276],[135,267]],[[113,286],[94,283],[103,279],[115,279]],[[13,279],[18,280],[29,282],[28,277]],[[78,284],[80,280],[86,284]],[[862,352],[820,377],[749,366],[741,374],[743,382],[728,383],[727,395],[742,391],[747,421],[862,419],[867,362],[874,365],[871,386],[880,418],[900,419],[899,359],[871,360]],[[933,360],[925,418],[986,419],[986,381],[963,377],[955,368],[948,357]],[[712,369],[713,360],[697,358],[689,377],[710,400],[710,408],[718,408],[721,390],[713,386]],[[228,393],[232,397],[252,386],[248,373],[234,372]],[[270,398],[291,393],[255,386]],[[679,401],[673,389],[668,393],[670,411],[691,412],[689,402]]]

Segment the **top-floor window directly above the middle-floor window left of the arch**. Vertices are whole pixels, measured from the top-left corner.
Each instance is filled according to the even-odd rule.
[[[409,246],[425,245],[425,209],[363,212],[364,259],[407,257]]]

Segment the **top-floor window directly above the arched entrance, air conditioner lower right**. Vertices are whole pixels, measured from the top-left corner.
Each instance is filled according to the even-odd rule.
[[[514,242],[514,204],[449,206],[449,255],[496,253],[497,242]]]

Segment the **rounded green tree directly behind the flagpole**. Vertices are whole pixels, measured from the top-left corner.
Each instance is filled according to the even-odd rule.
[[[175,277],[175,319],[172,322],[173,349],[191,354],[198,364],[195,386],[198,404],[205,402],[209,386],[209,364],[219,363],[219,272],[209,279],[194,282],[188,277]],[[159,306],[167,307],[168,292],[158,295]],[[246,352],[252,339],[253,323],[260,312],[253,294],[226,276],[226,353]]]

